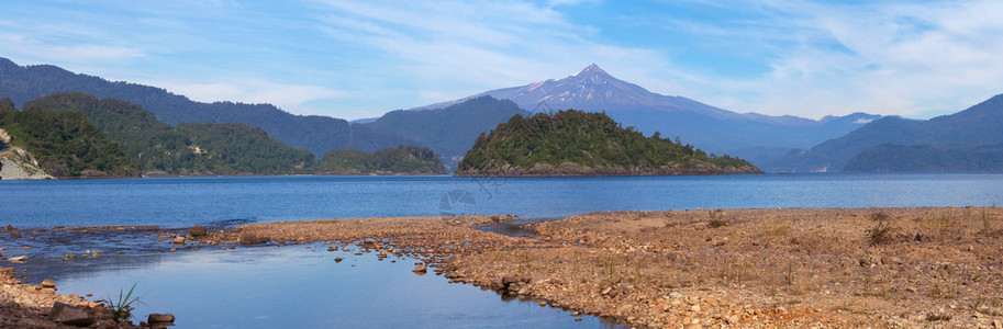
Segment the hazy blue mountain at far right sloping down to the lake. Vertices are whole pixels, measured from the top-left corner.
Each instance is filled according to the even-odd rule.
[[[1003,95],[928,121],[883,117],[769,164],[791,172],[1000,171],[1000,144]]]

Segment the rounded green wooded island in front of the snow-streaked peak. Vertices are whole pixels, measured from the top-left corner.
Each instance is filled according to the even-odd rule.
[[[604,113],[512,116],[481,134],[457,175],[675,175],[761,173],[748,161],[707,155],[660,134],[645,137]]]

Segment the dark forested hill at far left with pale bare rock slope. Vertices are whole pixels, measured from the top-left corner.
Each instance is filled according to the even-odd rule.
[[[10,146],[33,158],[56,178],[138,177],[136,162],[79,111],[53,113],[40,107],[14,109],[0,101],[0,128]],[[10,150],[9,150],[10,151]]]

